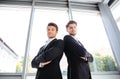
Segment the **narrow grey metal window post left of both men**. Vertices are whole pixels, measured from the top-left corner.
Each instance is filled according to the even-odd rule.
[[[35,5],[35,0],[32,1],[31,15],[30,15],[28,35],[27,35],[25,55],[24,55],[22,79],[26,79],[26,75],[27,75],[28,55],[29,55],[29,49],[30,49],[30,41],[31,41],[31,33],[32,33],[32,26],[33,26],[33,18],[34,18],[34,12],[35,12],[34,5]]]

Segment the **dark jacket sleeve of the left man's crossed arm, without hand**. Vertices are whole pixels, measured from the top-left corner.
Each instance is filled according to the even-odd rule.
[[[55,59],[57,56],[63,54],[63,49],[64,49],[64,42],[63,40],[57,40],[56,44],[46,51],[44,53],[40,54],[37,58],[36,61],[40,62],[47,62],[47,61],[52,61]]]

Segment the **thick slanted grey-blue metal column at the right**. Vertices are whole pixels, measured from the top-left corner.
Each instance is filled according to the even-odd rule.
[[[113,54],[120,70],[120,32],[107,2],[108,1],[99,3],[98,6]]]

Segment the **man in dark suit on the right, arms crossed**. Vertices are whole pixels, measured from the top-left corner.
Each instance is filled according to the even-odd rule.
[[[87,50],[75,37],[77,23],[69,21],[66,25],[69,35],[64,37],[64,52],[68,61],[68,79],[91,79],[91,73],[85,53]]]

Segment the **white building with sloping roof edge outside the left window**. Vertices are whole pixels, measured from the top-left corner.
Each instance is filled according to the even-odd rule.
[[[16,72],[17,59],[17,54],[0,38],[0,72]]]

